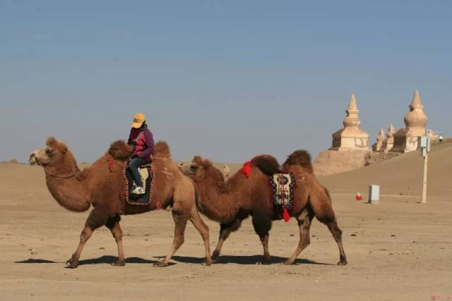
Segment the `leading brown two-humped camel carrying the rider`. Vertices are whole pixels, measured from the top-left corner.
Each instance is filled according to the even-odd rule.
[[[174,252],[184,242],[186,222],[191,221],[201,233],[206,247],[206,262],[210,265],[208,226],[199,216],[196,209],[195,190],[192,181],[184,176],[171,159],[166,142],[155,145],[153,169],[155,183],[153,197],[149,205],[131,205],[125,202],[126,185],[123,176],[126,159],[131,156],[132,148],[124,141],[112,143],[109,151],[93,163],[92,166],[80,169],[71,151],[63,142],[54,137],[47,139],[46,147],[30,154],[30,164],[39,164],[46,174],[47,188],[52,197],[70,211],[82,212],[93,205],[85,227],[81,232],[80,243],[67,266],[78,266],[83,246],[95,229],[106,226],[112,231],[118,245],[118,259],[115,266],[124,266],[124,249],[122,231],[119,226],[121,214],[141,214],[157,207],[157,200],[162,207],[172,207],[174,219],[174,242],[165,259],[156,266],[167,266]]]

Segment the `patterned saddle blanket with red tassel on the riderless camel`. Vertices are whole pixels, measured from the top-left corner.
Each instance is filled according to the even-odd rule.
[[[268,177],[273,209],[292,210],[294,207],[295,177],[291,171],[281,170]]]

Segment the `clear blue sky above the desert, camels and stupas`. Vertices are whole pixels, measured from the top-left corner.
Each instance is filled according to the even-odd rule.
[[[452,136],[452,1],[0,1],[0,160],[54,135],[78,161],[143,112],[174,159],[282,160],[404,126]]]

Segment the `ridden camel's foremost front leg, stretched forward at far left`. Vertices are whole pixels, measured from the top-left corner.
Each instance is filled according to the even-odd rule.
[[[80,255],[82,254],[85,243],[90,239],[91,235],[93,235],[95,229],[105,225],[106,221],[107,214],[105,213],[105,210],[103,208],[95,207],[93,210],[91,210],[88,219],[86,219],[85,228],[83,228],[80,235],[80,242],[78,243],[77,250],[72,254],[71,259],[66,262],[67,267],[73,269],[78,266],[78,259],[80,259]]]

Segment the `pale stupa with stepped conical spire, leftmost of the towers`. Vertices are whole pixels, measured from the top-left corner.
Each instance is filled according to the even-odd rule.
[[[350,97],[350,104],[345,111],[344,128],[333,134],[333,145],[330,150],[335,151],[369,151],[369,134],[361,130],[355,94]]]

